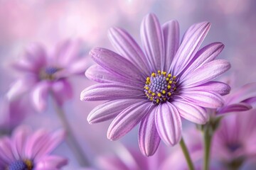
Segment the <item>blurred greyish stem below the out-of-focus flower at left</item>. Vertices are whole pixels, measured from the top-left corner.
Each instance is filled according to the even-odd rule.
[[[69,145],[70,149],[73,151],[73,154],[78,160],[78,163],[80,164],[80,166],[90,166],[90,162],[85,156],[84,152],[82,152],[82,147],[80,146],[78,140],[76,140],[73,130],[70,124],[68,123],[68,119],[62,107],[58,105],[57,101],[55,101],[54,96],[53,96],[53,106],[55,108],[56,113],[58,114],[58,117],[60,118],[63,124],[63,127],[67,132],[67,135],[68,135],[67,144]]]

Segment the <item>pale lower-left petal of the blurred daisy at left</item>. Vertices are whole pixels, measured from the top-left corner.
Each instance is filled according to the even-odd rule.
[[[9,100],[14,100],[15,98],[25,94],[33,88],[37,81],[37,78],[33,75],[18,79],[11,84],[11,88],[6,94],[7,98],[9,98]]]

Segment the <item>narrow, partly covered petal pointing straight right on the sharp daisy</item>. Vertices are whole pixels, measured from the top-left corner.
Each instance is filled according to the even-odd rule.
[[[209,81],[206,84],[200,86],[194,86],[190,88],[183,88],[183,91],[209,91],[212,93],[218,93],[222,96],[229,94],[230,86],[219,81]]]

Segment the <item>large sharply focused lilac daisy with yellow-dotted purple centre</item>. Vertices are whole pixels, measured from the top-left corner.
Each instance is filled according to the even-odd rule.
[[[90,51],[89,79],[100,82],[81,93],[82,101],[103,101],[88,115],[89,123],[114,118],[107,137],[118,140],[140,123],[139,147],[143,154],[156,152],[160,140],[174,146],[181,140],[181,118],[204,124],[204,108],[223,106],[221,95],[230,86],[212,81],[230,68],[215,60],[224,45],[214,42],[198,50],[210,23],[188,28],[181,43],[177,21],[160,25],[154,14],[142,21],[141,47],[122,28],[110,29],[110,41],[119,52],[104,48]]]

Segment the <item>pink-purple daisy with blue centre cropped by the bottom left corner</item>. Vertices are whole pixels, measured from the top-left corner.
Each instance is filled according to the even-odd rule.
[[[50,152],[64,139],[64,132],[46,130],[31,132],[26,126],[18,127],[11,137],[0,139],[0,169],[58,170],[67,159]]]

